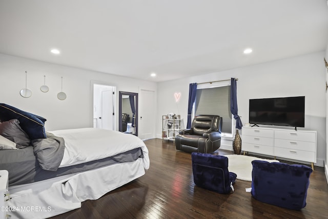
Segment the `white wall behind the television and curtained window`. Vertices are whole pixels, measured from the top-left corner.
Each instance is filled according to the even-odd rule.
[[[158,83],[158,114],[156,136],[161,137],[161,115],[181,114],[187,124],[189,83],[201,83],[239,78],[237,82],[238,114],[242,123],[248,123],[249,99],[285,96],[305,96],[305,128],[317,131],[317,166],[323,166],[326,154],[326,97],[324,52],[316,52],[275,62],[244,68],[191,76],[175,81]],[[181,92],[175,103],[174,93]],[[299,128],[301,130],[301,128]],[[221,147],[230,148],[230,141]]]

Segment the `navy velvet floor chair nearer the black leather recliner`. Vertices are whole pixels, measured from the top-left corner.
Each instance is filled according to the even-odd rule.
[[[229,172],[228,157],[192,152],[191,160],[197,186],[221,194],[233,192],[237,174]]]

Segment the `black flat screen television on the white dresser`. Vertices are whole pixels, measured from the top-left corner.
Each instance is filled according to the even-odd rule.
[[[250,99],[250,124],[304,127],[305,96]]]

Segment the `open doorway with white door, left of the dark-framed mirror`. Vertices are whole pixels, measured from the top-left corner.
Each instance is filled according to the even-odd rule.
[[[93,127],[115,130],[115,87],[93,84]]]

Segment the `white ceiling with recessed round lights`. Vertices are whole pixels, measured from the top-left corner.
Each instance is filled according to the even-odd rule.
[[[0,1],[0,53],[155,82],[323,51],[327,42],[326,0]]]

